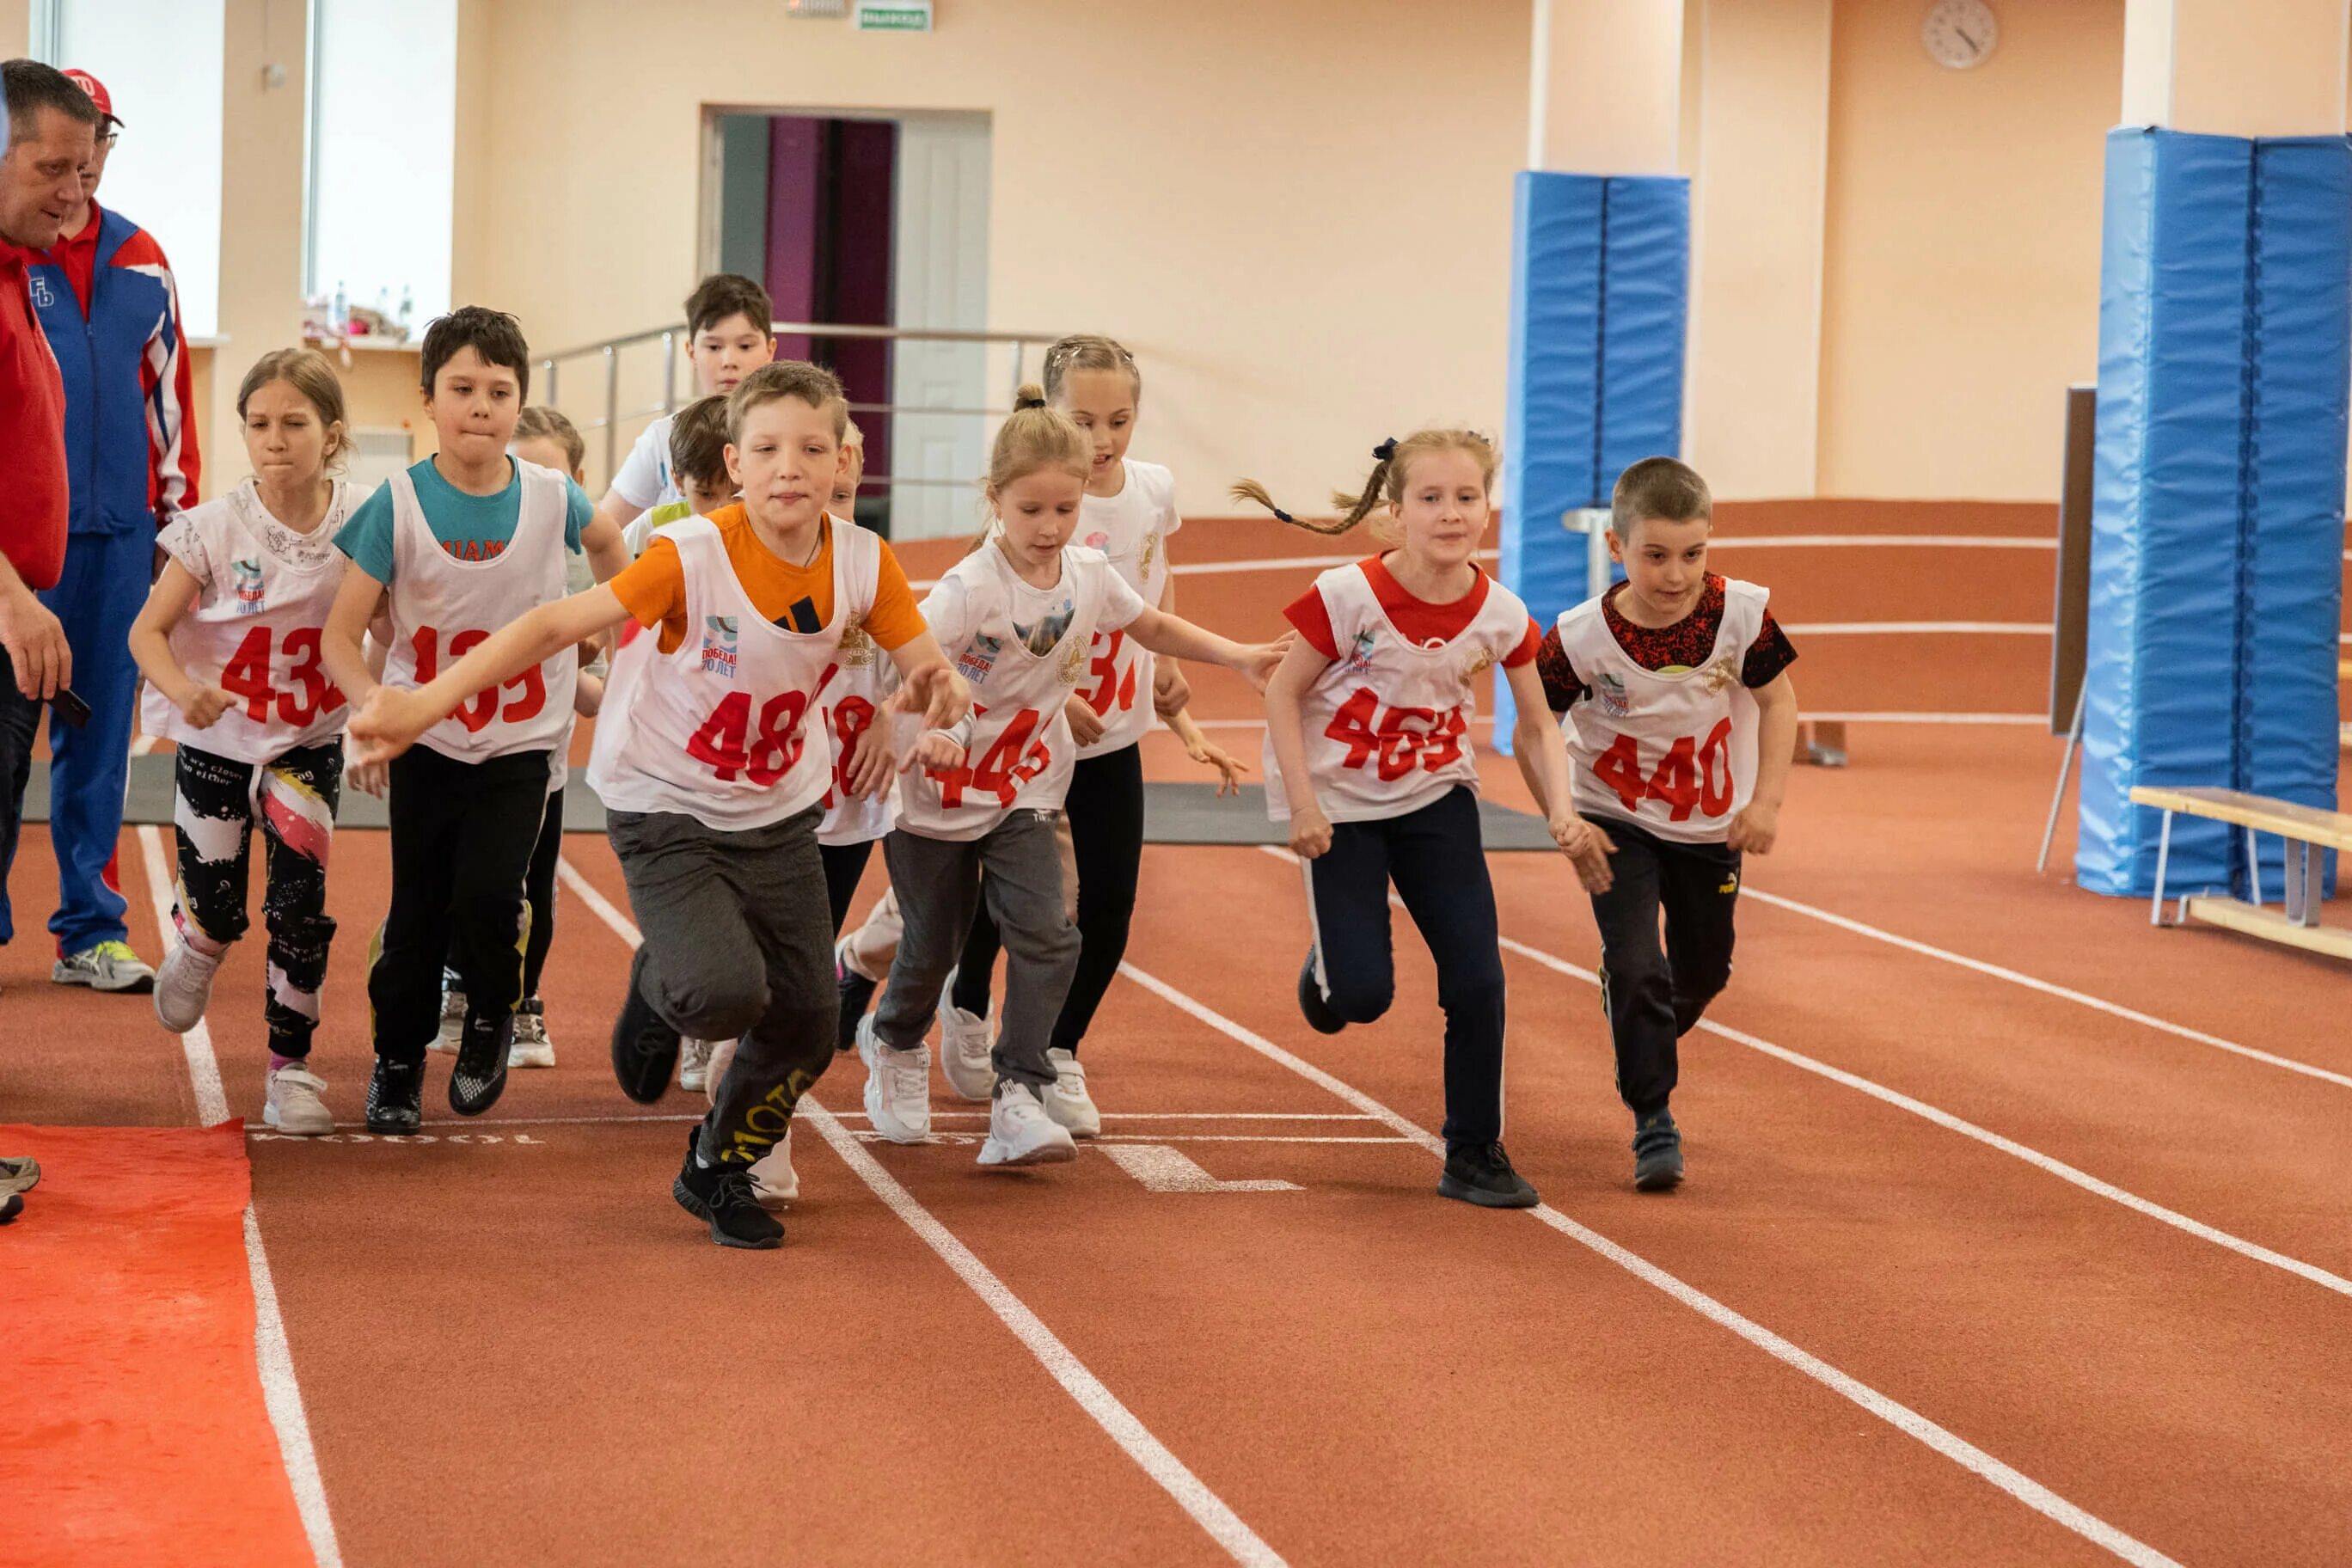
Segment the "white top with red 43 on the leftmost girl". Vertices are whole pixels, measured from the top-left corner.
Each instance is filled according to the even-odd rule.
[[[327,517],[296,534],[270,517],[245,480],[179,512],[155,536],[200,590],[195,609],[172,628],[172,658],[191,679],[245,701],[212,729],[195,729],[151,684],[139,703],[146,733],[233,762],[270,762],[343,733],[350,710],[327,679],[320,635],[343,581],[334,536],[358,505],[360,494],[336,480]]]

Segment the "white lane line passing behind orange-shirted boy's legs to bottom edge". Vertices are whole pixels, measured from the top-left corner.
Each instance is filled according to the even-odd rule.
[[[572,867],[569,858],[557,860],[555,870],[572,884],[574,891],[583,893],[588,907],[597,912],[614,936],[626,940],[630,947],[642,940],[635,922],[621,914],[612,900],[595,893],[595,889],[588,886],[588,879]],[[1110,1441],[1143,1469],[1143,1474],[1157,1481],[1160,1488],[1176,1500],[1176,1507],[1192,1516],[1192,1523],[1209,1533],[1209,1540],[1223,1547],[1237,1563],[1249,1563],[1251,1568],[1282,1568],[1282,1554],[1268,1547],[1256,1530],[1242,1523],[1242,1516],[1235,1514],[1223,1497],[1209,1490],[1207,1481],[1195,1476],[1183,1460],[1169,1453],[1167,1443],[1152,1436],[1150,1427],[1136,1420],[1136,1413],[1129,1410],[1101,1378],[1087,1371],[1087,1363],[1080,1361],[1077,1354],[1073,1354],[1070,1347],[1063,1345],[1061,1338],[1056,1338],[1054,1331],[1047,1328],[1044,1321],[1030,1312],[1028,1305],[1014,1295],[1011,1288],[997,1279],[969,1246],[955,1239],[955,1232],[931,1218],[931,1211],[917,1204],[915,1194],[901,1187],[898,1180],[884,1171],[880,1161],[863,1150],[863,1145],[858,1145],[856,1133],[844,1128],[833,1112],[816,1103],[816,1095],[802,1095],[795,1114],[807,1117],[809,1126],[814,1126],[826,1143],[833,1145],[833,1152],[842,1157],[842,1164],[856,1171],[858,1180],[863,1180],[891,1213],[906,1220],[908,1229],[922,1237],[924,1246],[938,1253],[941,1262],[946,1262],[955,1276],[962,1279],[971,1293],[997,1314],[997,1321],[1004,1324],[1033,1356],[1037,1356],[1037,1363],[1044,1366],[1047,1375],[1054,1378],[1054,1382],[1058,1382],[1073,1401],[1077,1401],[1077,1408],[1091,1415],[1094,1425],[1098,1425]]]

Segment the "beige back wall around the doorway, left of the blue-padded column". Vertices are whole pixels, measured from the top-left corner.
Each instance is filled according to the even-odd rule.
[[[774,0],[470,5],[459,294],[541,346],[675,320],[703,103],[988,110],[993,324],[1129,341],[1136,454],[1188,510],[1230,510],[1237,475],[1312,503],[1392,430],[1501,421],[1524,5],[938,14],[889,38]]]

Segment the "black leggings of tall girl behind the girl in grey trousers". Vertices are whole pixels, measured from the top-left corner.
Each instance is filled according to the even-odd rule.
[[[1136,914],[1143,870],[1143,748],[1122,745],[1103,757],[1080,757],[1070,769],[1070,853],[1077,860],[1077,976],[1054,1020],[1051,1048],[1077,1056],[1094,1009],[1127,957],[1127,926]],[[981,903],[955,971],[955,1006],[988,1013],[988,980],[997,966],[997,926]]]

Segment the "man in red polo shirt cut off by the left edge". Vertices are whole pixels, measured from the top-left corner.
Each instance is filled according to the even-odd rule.
[[[0,865],[16,856],[16,813],[33,769],[40,703],[73,679],[66,628],[40,599],[66,564],[66,388],[26,282],[28,252],[56,244],[82,205],[96,158],[99,106],[38,61],[0,63],[7,99],[0,150]],[[0,893],[5,903],[5,893]],[[5,940],[5,933],[0,933]],[[0,1222],[40,1180],[31,1159],[0,1157]]]

